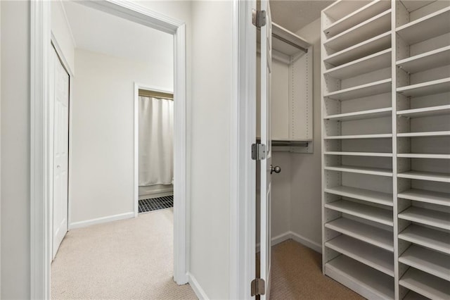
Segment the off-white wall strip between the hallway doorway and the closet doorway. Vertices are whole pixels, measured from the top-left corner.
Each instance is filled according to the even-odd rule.
[[[191,274],[228,299],[233,2],[194,1],[192,12]]]

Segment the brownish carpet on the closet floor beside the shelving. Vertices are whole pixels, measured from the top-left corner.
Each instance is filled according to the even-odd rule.
[[[272,247],[272,300],[364,299],[351,289],[326,277],[321,254],[292,239]]]

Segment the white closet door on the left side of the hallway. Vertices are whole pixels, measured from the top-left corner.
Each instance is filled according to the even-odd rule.
[[[52,48],[53,80],[53,259],[68,232],[69,75]]]

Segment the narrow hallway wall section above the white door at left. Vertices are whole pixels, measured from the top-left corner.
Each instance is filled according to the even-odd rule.
[[[60,50],[68,65],[66,67],[75,73],[75,41],[65,16],[62,1],[51,1],[51,32],[56,38]]]

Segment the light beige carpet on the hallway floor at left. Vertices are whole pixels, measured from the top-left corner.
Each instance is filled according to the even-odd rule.
[[[51,265],[52,299],[197,299],[173,274],[172,209],[70,230]]]

